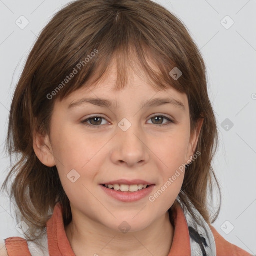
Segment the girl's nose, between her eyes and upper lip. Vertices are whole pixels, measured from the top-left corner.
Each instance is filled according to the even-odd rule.
[[[149,160],[150,151],[145,140],[143,131],[137,125],[132,124],[127,130],[119,126],[112,143],[112,161],[129,167],[145,164]]]

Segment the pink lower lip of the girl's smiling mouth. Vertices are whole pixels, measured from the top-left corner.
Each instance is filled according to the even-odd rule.
[[[103,185],[100,185],[102,189],[113,198],[122,201],[122,202],[134,202],[138,201],[145,196],[147,196],[154,188],[155,185],[150,185],[147,188],[138,190],[137,192],[120,192],[110,188],[106,188]]]

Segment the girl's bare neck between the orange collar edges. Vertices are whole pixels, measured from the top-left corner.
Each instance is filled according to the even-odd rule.
[[[145,229],[137,232],[116,232],[98,222],[72,221],[65,227],[66,236],[76,256],[137,254],[146,256],[168,256],[174,227],[167,211]]]

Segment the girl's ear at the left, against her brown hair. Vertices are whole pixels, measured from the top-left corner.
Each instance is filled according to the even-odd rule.
[[[33,132],[33,149],[41,163],[48,167],[55,166],[55,159],[48,135]]]

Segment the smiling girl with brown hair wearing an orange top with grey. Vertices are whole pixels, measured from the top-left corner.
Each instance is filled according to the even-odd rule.
[[[211,226],[217,127],[203,59],[150,0],[78,0],[38,37],[12,99],[1,255],[250,255]],[[211,194],[211,193],[210,193]],[[211,194],[212,195],[212,194]]]

